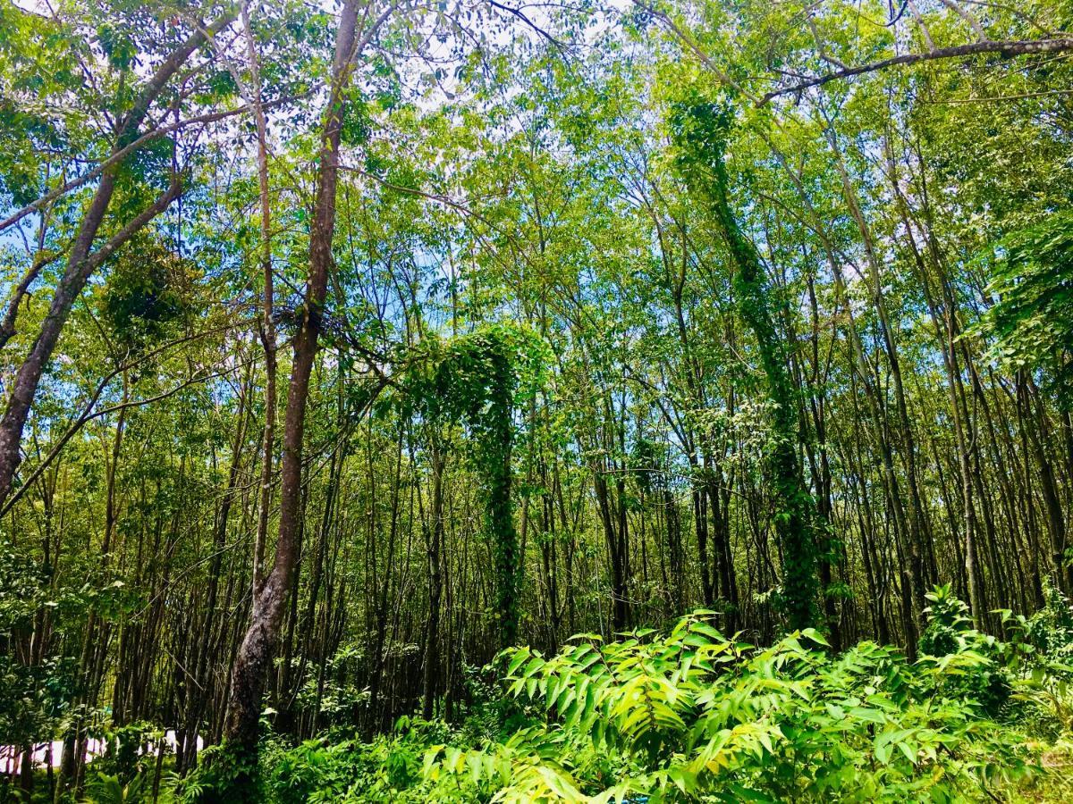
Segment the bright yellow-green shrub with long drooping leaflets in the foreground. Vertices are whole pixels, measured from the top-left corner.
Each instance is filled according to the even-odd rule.
[[[513,651],[509,690],[538,725],[491,750],[433,746],[428,775],[509,779],[503,801],[957,801],[1032,769],[1020,735],[964,695],[989,660],[960,644],[915,666],[870,642],[832,656],[813,630],[758,649],[709,615],[550,658]]]

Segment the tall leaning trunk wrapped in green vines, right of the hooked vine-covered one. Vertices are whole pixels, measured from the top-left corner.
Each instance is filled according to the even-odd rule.
[[[812,498],[805,488],[797,455],[798,426],[794,387],[787,370],[785,345],[771,315],[764,267],[756,247],[741,232],[731,209],[723,163],[729,113],[711,103],[679,106],[672,121],[678,164],[691,188],[705,196],[733,267],[738,314],[756,339],[774,411],[775,443],[769,457],[775,490],[775,530],[782,551],[782,590],[792,628],[815,620],[817,549]]]

